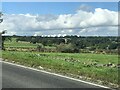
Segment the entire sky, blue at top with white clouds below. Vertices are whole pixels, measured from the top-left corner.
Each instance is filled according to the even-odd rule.
[[[117,36],[117,2],[3,2],[6,35]]]

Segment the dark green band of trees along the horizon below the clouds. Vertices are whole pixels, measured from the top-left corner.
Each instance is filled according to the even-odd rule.
[[[40,51],[44,46],[56,47],[59,52],[78,53],[80,50],[117,50],[120,42],[118,37],[42,37],[42,36],[4,36],[6,39],[16,38],[16,42],[25,41],[33,44],[40,43],[37,48]]]

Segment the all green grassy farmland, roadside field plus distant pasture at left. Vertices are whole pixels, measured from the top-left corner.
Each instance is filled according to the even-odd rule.
[[[16,42],[6,40],[5,48],[37,48],[39,43]],[[55,48],[45,46],[46,48]],[[119,63],[117,54],[96,53],[61,53],[41,51],[5,50],[2,52],[5,61],[18,63],[49,72],[60,73],[90,82],[118,86]]]

